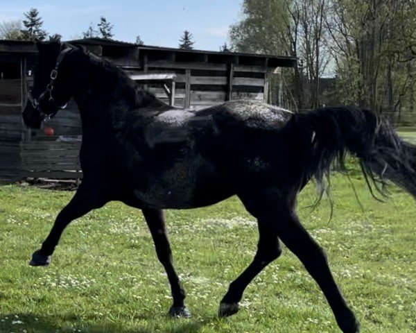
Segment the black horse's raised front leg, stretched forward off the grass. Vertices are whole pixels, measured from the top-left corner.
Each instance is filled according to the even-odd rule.
[[[29,262],[31,266],[49,265],[51,263],[51,255],[53,255],[53,251],[58,245],[62,232],[64,232],[67,225],[94,208],[102,207],[107,203],[107,200],[103,200],[103,198],[98,200],[97,194],[103,195],[101,191],[94,190],[94,187],[89,186],[87,182],[83,182],[78,187],[71,201],[69,201],[68,205],[56,217],[51,232],[49,232],[48,237],[42,243],[42,247],[33,253],[32,259]]]

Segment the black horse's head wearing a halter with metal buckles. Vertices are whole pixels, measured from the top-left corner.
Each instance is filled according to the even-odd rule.
[[[71,68],[67,65],[74,46],[60,42],[39,42],[39,58],[33,87],[23,112],[26,126],[40,128],[42,121],[55,117],[71,98]]]

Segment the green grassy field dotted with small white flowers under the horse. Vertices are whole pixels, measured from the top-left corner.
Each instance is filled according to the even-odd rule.
[[[363,332],[416,332],[416,205],[392,188],[372,199],[354,173],[358,198],[335,176],[317,210],[313,184],[300,196],[304,225],[327,250],[336,280]],[[73,222],[49,267],[28,259],[73,192],[0,187],[0,332],[339,332],[315,282],[287,249],[245,293],[241,311],[220,320],[218,303],[257,245],[252,216],[236,198],[168,211],[175,267],[192,318],[173,320],[169,287],[141,213],[121,203]]]

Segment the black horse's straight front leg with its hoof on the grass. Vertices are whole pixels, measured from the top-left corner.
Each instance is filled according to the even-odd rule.
[[[166,235],[163,211],[145,208],[142,212],[155,243],[157,258],[164,266],[169,283],[171,284],[173,305],[168,313],[172,317],[187,318],[190,314],[184,304],[185,291],[182,288],[179,277],[173,267],[172,250]]]

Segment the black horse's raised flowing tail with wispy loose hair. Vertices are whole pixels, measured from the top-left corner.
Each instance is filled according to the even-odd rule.
[[[329,189],[333,164],[346,172],[347,153],[358,158],[375,198],[376,192],[386,196],[386,180],[416,198],[416,146],[404,142],[387,119],[367,109],[341,106],[295,114],[294,121],[305,147],[304,176],[317,180],[320,198]]]

